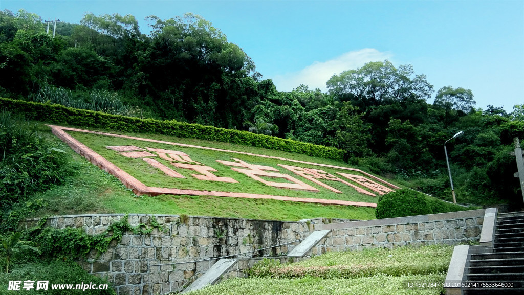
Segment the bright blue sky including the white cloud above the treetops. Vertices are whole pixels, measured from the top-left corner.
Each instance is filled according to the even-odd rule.
[[[0,0],[44,20],[85,12],[144,18],[194,13],[244,49],[280,91],[325,91],[331,75],[389,59],[442,86],[471,89],[476,107],[524,104],[524,0],[498,1],[53,1]],[[430,103],[432,101],[429,101]]]

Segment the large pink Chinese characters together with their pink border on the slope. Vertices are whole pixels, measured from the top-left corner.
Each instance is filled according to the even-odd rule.
[[[252,179],[254,181],[263,183],[267,187],[276,188],[276,189],[289,189],[296,191],[303,191],[307,193],[317,193],[321,190],[330,191],[336,194],[342,194],[343,192],[340,185],[343,184],[344,187],[347,186],[348,189],[355,190],[358,193],[367,196],[376,196],[385,194],[397,189],[395,185],[388,183],[384,180],[381,180],[371,174],[365,173],[358,169],[339,167],[325,165],[321,163],[312,163],[304,162],[292,159],[283,159],[278,157],[270,157],[264,155],[255,155],[249,154],[247,152],[238,152],[231,150],[221,150],[209,147],[200,147],[200,146],[189,146],[184,144],[169,143],[167,141],[152,140],[146,138],[137,138],[124,135],[115,135],[107,133],[98,133],[92,132],[89,130],[81,130],[67,127],[51,126],[53,134],[60,137],[65,141],[69,146],[71,146],[75,151],[84,157],[88,158],[95,165],[103,168],[104,170],[114,174],[118,179],[120,179],[128,188],[133,189],[137,195],[158,195],[158,194],[188,194],[188,195],[215,195],[215,196],[230,196],[237,198],[256,198],[256,199],[277,199],[285,201],[298,201],[298,202],[311,202],[311,203],[323,203],[323,204],[342,204],[342,205],[357,205],[357,206],[376,206],[374,203],[365,203],[365,202],[352,202],[352,201],[342,201],[342,200],[325,200],[325,199],[316,199],[316,198],[297,198],[291,196],[281,196],[281,195],[266,195],[266,194],[253,194],[253,193],[243,193],[243,192],[227,192],[227,191],[206,191],[206,190],[194,190],[194,189],[177,189],[169,187],[150,187],[145,185],[141,181],[137,180],[135,177],[131,176],[126,171],[114,165],[114,163],[103,158],[97,152],[93,151],[89,147],[80,143],[77,139],[66,133],[65,131],[75,131],[83,133],[91,133],[104,136],[113,136],[113,137],[124,137],[133,140],[143,140],[143,144],[136,145],[118,145],[118,146],[105,146],[106,150],[112,150],[116,152],[119,157],[128,158],[129,161],[140,161],[141,163],[147,163],[150,170],[158,171],[167,176],[169,179],[172,179],[170,183],[176,183],[177,179],[187,179],[187,177],[192,178],[194,181],[212,181],[217,183],[239,183],[240,181],[246,181],[246,179]],[[172,149],[160,149],[155,148],[154,143],[170,144],[174,147]],[[208,149],[215,150],[220,152],[244,154],[249,156],[256,156],[260,158],[272,158],[281,160],[282,163],[278,163],[278,169],[272,166],[265,166],[255,164],[247,160],[237,159],[235,157],[230,157],[230,160],[213,160],[216,165],[213,165],[209,159],[206,160],[208,165],[204,165],[199,161],[193,160],[191,157],[193,155],[188,155],[186,152],[177,150],[176,146],[184,146],[191,148],[199,149]],[[292,161],[295,163],[306,163],[307,166],[324,166],[330,168],[339,168],[344,170],[355,171],[357,174],[344,173],[344,172],[334,172],[337,175],[330,174],[322,169],[313,169],[305,168],[300,166],[291,166],[286,165],[285,163]],[[133,163],[133,162],[132,162]],[[139,162],[134,162],[135,166]],[[218,166],[217,166],[218,165]],[[302,164],[303,165],[303,164]],[[215,167],[211,167],[215,166]],[[228,176],[231,177],[222,177],[220,173],[217,173],[217,169],[231,169],[236,173],[233,173]],[[319,167],[320,168],[320,167]],[[286,173],[287,171],[287,173]],[[290,174],[289,174],[290,173]],[[354,173],[354,172],[353,172]],[[364,174],[358,175],[358,174]],[[184,176],[185,175],[185,176]],[[238,175],[238,177],[235,177]],[[293,176],[291,176],[293,175]],[[248,178],[246,178],[248,177]],[[373,179],[373,180],[372,180]],[[309,182],[306,183],[305,181]],[[248,181],[249,182],[249,181]],[[332,185],[335,185],[337,188],[334,188]],[[331,185],[330,185],[331,184]]]

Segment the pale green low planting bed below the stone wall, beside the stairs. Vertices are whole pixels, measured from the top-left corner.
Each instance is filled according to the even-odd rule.
[[[189,294],[439,295],[452,254],[453,246],[433,245],[332,252],[287,265],[263,260],[247,279],[226,280]],[[408,282],[434,282],[439,287],[408,288]]]

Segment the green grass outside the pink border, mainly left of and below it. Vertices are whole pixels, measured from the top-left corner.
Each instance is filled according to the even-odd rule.
[[[46,192],[32,196],[30,206],[27,202],[12,212],[33,211],[28,217],[46,215],[69,215],[83,213],[144,213],[144,214],[187,214],[252,218],[263,220],[297,221],[304,218],[325,217],[357,220],[375,219],[375,209],[369,207],[319,205],[277,200],[255,200],[221,198],[213,196],[172,196],[137,197],[111,174],[94,166],[72,149],[54,137],[50,128],[41,126],[40,132],[56,140],[57,147],[68,153],[74,172],[65,178],[63,185],[55,185]],[[135,135],[136,136],[136,135]],[[152,137],[152,136],[151,136]],[[167,140],[162,136],[162,140]],[[201,146],[214,145],[212,141],[176,138],[178,142]],[[171,140],[171,138],[169,139]],[[226,143],[216,143],[220,148],[244,147]],[[105,147],[104,147],[105,148]],[[249,152],[260,154],[264,149],[245,147]],[[245,151],[245,150],[244,150]],[[274,152],[274,151],[270,151]],[[275,151],[279,157],[292,154]],[[315,161],[322,159],[310,158]],[[326,163],[340,162],[325,160]],[[228,168],[229,169],[229,168]],[[13,216],[15,217],[15,216]]]

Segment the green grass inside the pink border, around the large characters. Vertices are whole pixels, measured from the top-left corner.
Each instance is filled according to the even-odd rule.
[[[305,163],[290,162],[277,159],[268,159],[260,158],[249,155],[236,154],[232,152],[222,152],[215,150],[206,150],[200,148],[191,148],[183,146],[173,146],[168,144],[161,143],[151,143],[142,140],[128,139],[128,138],[119,138],[111,137],[97,134],[89,134],[82,132],[68,132],[74,138],[78,139],[81,143],[93,149],[99,155],[103,156],[107,160],[110,160],[119,168],[122,168],[127,173],[131,174],[133,177],[143,182],[144,184],[150,187],[167,187],[167,188],[177,188],[177,189],[196,189],[196,190],[208,190],[208,191],[226,191],[226,192],[243,192],[243,193],[256,193],[256,194],[271,194],[271,195],[285,195],[292,196],[296,198],[316,198],[316,199],[331,199],[331,200],[344,200],[344,201],[358,201],[358,202],[369,202],[376,203],[378,198],[373,196],[368,196],[362,193],[358,193],[354,188],[343,184],[338,181],[329,181],[323,180],[324,183],[330,185],[331,187],[342,191],[343,193],[334,193],[328,189],[322,188],[319,184],[316,184],[312,181],[309,181],[305,178],[302,178],[293,172],[278,166],[277,164],[304,167],[304,168],[314,168],[321,169],[328,173],[331,173],[335,176],[338,176],[335,172],[350,173],[359,176],[364,176],[358,171],[348,171],[343,169],[335,169],[328,167],[321,167],[316,165],[310,165]],[[164,137],[162,140],[171,141],[174,143],[178,142],[178,138]],[[172,178],[161,172],[159,169],[151,167],[145,161],[140,159],[131,159],[126,158],[120,155],[114,150],[107,149],[106,146],[123,146],[123,145],[133,145],[140,148],[152,147],[152,148],[161,148],[167,150],[177,150],[185,152],[188,154],[192,160],[203,163],[205,166],[210,166],[218,170],[214,172],[216,176],[219,177],[229,177],[238,181],[238,183],[227,183],[227,182],[217,182],[217,181],[205,181],[198,180],[192,177],[190,174],[195,173],[195,171],[188,169],[179,169],[169,165],[167,160],[160,159],[158,157],[155,160],[162,162],[164,165],[176,170],[181,173],[185,179]],[[274,156],[272,150],[258,149],[257,154]],[[289,158],[294,159],[294,155],[288,155]],[[272,168],[278,169],[282,174],[287,174],[292,176],[300,181],[303,181],[314,188],[320,190],[320,192],[307,192],[307,191],[295,191],[295,190],[286,190],[270,187],[261,182],[255,181],[248,176],[245,176],[243,173],[239,173],[231,170],[231,167],[225,166],[222,163],[217,162],[216,160],[226,160],[234,161],[232,158],[241,159],[247,163],[270,166]],[[316,158],[307,158],[309,162],[314,162],[318,159]],[[336,163],[338,166],[345,166],[344,163]],[[340,178],[344,179],[342,176]],[[264,178],[264,177],[263,177]],[[288,182],[283,179],[278,178],[266,178],[266,180],[275,181],[275,182]],[[346,179],[347,180],[347,179]],[[357,183],[354,183],[350,180],[347,180],[350,183],[353,183],[359,186]],[[364,187],[360,186],[365,189]],[[372,192],[368,190],[369,192]]]

